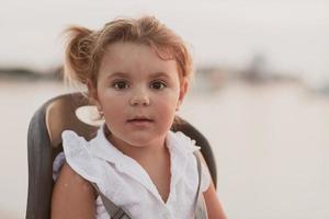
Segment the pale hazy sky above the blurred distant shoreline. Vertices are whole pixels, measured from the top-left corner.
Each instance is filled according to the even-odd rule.
[[[116,16],[152,14],[192,47],[196,65],[245,67],[263,54],[272,69],[329,76],[329,0],[1,0],[0,66],[47,69],[63,60],[60,33]]]

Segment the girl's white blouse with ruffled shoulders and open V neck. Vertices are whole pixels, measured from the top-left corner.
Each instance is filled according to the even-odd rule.
[[[168,131],[166,137],[171,161],[170,193],[166,203],[147,172],[134,159],[111,145],[103,128],[90,141],[71,130],[64,131],[61,137],[64,153],[54,161],[54,178],[66,159],[72,170],[95,183],[107,198],[131,212],[134,219],[194,217],[198,175],[193,151],[200,148],[184,134]],[[206,191],[209,183],[211,175],[203,164],[201,191]],[[95,218],[109,219],[100,196],[95,205]]]

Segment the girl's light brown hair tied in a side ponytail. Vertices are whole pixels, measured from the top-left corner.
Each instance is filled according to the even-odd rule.
[[[100,31],[72,26],[66,47],[65,78],[86,84],[91,80],[97,87],[97,78],[106,46],[116,42],[131,42],[152,47],[163,59],[177,61],[180,78],[190,79],[192,58],[180,36],[154,16],[140,19],[116,19]]]

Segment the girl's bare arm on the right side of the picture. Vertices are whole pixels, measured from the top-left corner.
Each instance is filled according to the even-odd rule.
[[[211,183],[208,189],[203,193],[205,204],[207,207],[208,218],[209,219],[226,219],[224,209],[219,203],[219,199],[216,194],[215,186],[213,182]]]

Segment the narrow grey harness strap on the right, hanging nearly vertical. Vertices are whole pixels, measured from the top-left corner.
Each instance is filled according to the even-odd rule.
[[[202,176],[201,152],[200,151],[194,151],[193,154],[196,158],[197,175],[198,175],[198,184],[197,184],[197,189],[196,189],[194,216],[195,216],[195,219],[207,219],[208,218],[207,208],[206,208],[206,205],[205,205],[203,193],[200,189],[200,187],[201,187],[201,176]]]

